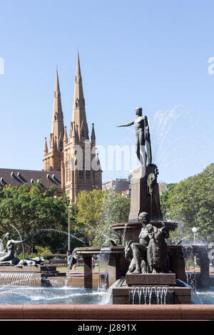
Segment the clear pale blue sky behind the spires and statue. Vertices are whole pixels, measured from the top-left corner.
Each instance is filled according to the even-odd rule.
[[[116,125],[141,105],[154,151],[159,143],[159,180],[178,182],[213,162],[213,1],[11,0],[0,9],[1,168],[43,168],[56,65],[69,127],[77,49],[98,145],[131,145],[133,128]],[[105,171],[103,181],[125,172]]]

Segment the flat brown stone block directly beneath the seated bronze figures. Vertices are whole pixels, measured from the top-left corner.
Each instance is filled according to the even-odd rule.
[[[175,274],[133,274],[126,273],[126,284],[128,286],[138,285],[175,285]]]

